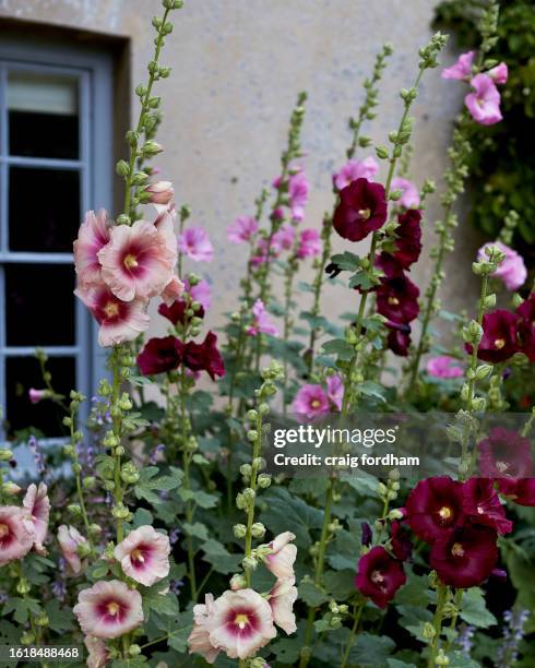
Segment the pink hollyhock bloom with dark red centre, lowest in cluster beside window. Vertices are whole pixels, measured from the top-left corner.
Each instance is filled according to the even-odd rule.
[[[100,346],[133,341],[148,327],[146,302],[141,299],[122,301],[105,286],[86,288],[79,286],[74,295],[85,303],[100,325],[98,330]]]

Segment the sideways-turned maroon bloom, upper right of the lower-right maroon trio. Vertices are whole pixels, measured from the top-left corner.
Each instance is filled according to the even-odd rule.
[[[463,510],[472,524],[482,524],[509,534],[513,523],[506,517],[506,510],[489,478],[469,478],[463,485]]]

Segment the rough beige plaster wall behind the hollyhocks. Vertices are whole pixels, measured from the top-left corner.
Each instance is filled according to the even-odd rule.
[[[225,227],[237,215],[252,213],[253,199],[277,175],[297,92],[309,92],[304,145],[312,192],[306,224],[319,226],[322,212],[332,206],[330,175],[343,162],[348,143],[346,120],[362,98],[360,82],[370,72],[376,51],[387,40],[395,49],[381,85],[379,118],[365,129],[376,142],[385,143],[401,114],[397,92],[412,85],[418,47],[431,34],[435,4],[435,0],[186,0],[185,9],[175,13],[175,32],[163,58],[173,65],[173,74],[157,90],[165,100],[159,140],[166,148],[157,164],[174,181],[179,203],[191,205],[192,220],[204,225],[218,247],[211,265],[192,266],[205,271],[212,282],[217,314],[234,308],[245,263],[243,253],[227,243]],[[134,85],[145,81],[151,19],[159,11],[157,0],[0,0],[0,15],[129,36]],[[444,63],[453,58],[450,49]],[[462,85],[440,79],[440,70],[425,76],[414,114],[413,172],[418,183],[425,178],[441,182],[462,93]],[[437,201],[435,195],[428,210],[429,227],[438,214]],[[461,225],[459,250],[448,266],[451,279],[443,290],[452,310],[469,306],[473,294],[469,264],[476,240],[463,220]],[[427,246],[432,241],[429,229],[426,241]],[[429,273],[427,258],[413,271],[424,287]],[[334,299],[328,296],[325,310],[347,310],[350,301],[342,303],[343,297],[340,288]],[[304,308],[307,299],[301,298]]]

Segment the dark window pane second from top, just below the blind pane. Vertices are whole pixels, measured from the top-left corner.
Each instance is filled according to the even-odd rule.
[[[9,248],[72,253],[80,226],[80,172],[11,167]]]

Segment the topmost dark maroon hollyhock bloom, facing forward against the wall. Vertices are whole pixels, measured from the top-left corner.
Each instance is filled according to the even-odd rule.
[[[384,225],[387,198],[381,183],[356,179],[340,191],[333,227],[343,239],[360,241]]]

